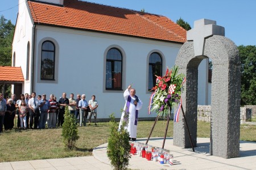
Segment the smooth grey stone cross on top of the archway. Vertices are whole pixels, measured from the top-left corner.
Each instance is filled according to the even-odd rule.
[[[225,36],[225,28],[216,25],[216,21],[200,19],[194,22],[194,28],[187,31],[187,41],[193,41],[195,56],[204,55],[204,42],[210,36]]]

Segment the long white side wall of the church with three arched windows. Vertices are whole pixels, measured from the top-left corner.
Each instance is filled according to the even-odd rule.
[[[37,50],[35,58],[35,86],[37,94],[55,94],[61,97],[62,92],[85,94],[86,100],[96,95],[99,102],[98,118],[109,118],[110,113],[120,117],[120,109],[125,103],[123,91],[133,83],[137,95],[143,101],[143,108],[139,117],[155,117],[148,115],[148,102],[151,92],[147,92],[147,57],[152,52],[163,54],[163,73],[166,67],[172,67],[181,44],[138,39],[104,33],[73,31],[65,28],[36,27],[36,48],[39,42],[51,37],[59,46],[59,61],[56,63],[57,83],[40,82],[40,52]],[[40,42],[42,43],[42,42]],[[123,53],[123,91],[105,91],[104,82],[104,53],[110,46],[121,47]]]

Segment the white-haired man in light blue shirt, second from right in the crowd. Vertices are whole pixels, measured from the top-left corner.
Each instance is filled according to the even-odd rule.
[[[88,116],[88,103],[85,100],[85,94],[82,94],[82,99],[79,101],[79,113],[80,113],[80,122],[79,125],[82,126],[82,122],[84,122],[84,126],[86,126],[86,119]]]

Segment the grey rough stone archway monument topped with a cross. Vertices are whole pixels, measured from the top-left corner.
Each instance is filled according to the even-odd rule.
[[[198,66],[204,58],[213,65],[211,92],[210,155],[236,158],[240,150],[240,58],[236,44],[224,37],[224,27],[216,21],[197,20],[195,28],[187,32],[187,42],[181,46],[175,65],[187,81],[181,95],[193,146],[197,145],[197,94]],[[175,111],[176,112],[176,111]],[[174,145],[191,147],[184,128],[184,118],[179,114],[174,124]]]

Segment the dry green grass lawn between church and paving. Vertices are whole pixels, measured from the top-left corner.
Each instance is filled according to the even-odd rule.
[[[146,138],[150,133],[154,121],[139,121],[137,138]],[[173,136],[174,122],[170,121],[167,137]],[[164,137],[166,121],[156,123],[151,137]],[[108,142],[109,122],[99,122],[97,126],[82,126],[79,129],[77,149],[64,150],[61,128],[45,130],[4,131],[0,134],[0,162],[21,160],[67,158],[92,155],[94,147]],[[197,137],[210,137],[210,123],[197,122]],[[240,139],[256,142],[256,126],[241,125]]]

